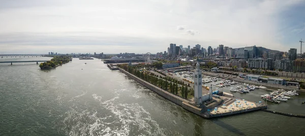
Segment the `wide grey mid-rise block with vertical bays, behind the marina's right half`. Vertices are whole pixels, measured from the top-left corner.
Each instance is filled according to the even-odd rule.
[[[272,59],[248,59],[249,68],[265,68],[273,70]]]

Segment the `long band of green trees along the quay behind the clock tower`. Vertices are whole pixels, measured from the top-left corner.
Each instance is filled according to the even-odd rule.
[[[155,76],[154,73],[149,73],[146,71],[139,71],[138,69],[136,69],[136,67],[128,66],[126,64],[118,65],[118,67],[124,69],[125,71],[128,71],[129,73],[131,73],[151,84],[159,86],[162,89],[171,92],[172,94],[180,95],[183,98],[187,98],[188,94],[190,92],[190,90],[188,89],[186,84],[182,83],[182,87],[179,87],[178,83],[166,80],[166,79],[170,79],[170,77],[168,77],[168,78],[164,77],[166,79],[158,78],[157,76]],[[179,90],[181,92],[180,94],[178,94]]]

